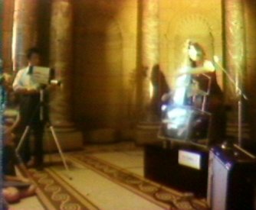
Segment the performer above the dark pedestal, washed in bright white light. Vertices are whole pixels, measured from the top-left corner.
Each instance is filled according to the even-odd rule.
[[[222,89],[218,86],[215,67],[211,61],[206,60],[205,51],[198,43],[187,40],[184,47],[185,61],[179,69],[176,85],[170,95],[163,95],[162,100],[168,99],[172,109],[168,105],[162,106],[163,116],[166,123],[177,127],[187,118],[187,110],[200,111],[199,113],[210,113],[211,123],[208,129],[208,119],[205,122],[193,121],[192,128],[196,126],[208,129],[208,140],[210,144],[222,142],[225,135],[225,109]],[[168,97],[169,96],[169,97]],[[205,112],[206,111],[206,112]],[[164,114],[166,113],[166,115]],[[199,123],[198,123],[199,122]],[[198,123],[198,125],[197,125]],[[205,127],[204,127],[205,126]],[[182,136],[186,127],[179,128],[178,134]],[[194,129],[196,130],[196,129]]]

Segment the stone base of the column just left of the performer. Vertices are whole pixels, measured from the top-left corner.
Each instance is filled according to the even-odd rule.
[[[159,141],[157,134],[159,132],[160,122],[140,122],[136,126],[135,142],[143,145]]]

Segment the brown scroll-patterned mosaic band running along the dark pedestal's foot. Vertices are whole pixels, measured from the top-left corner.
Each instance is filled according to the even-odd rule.
[[[181,193],[160,186],[157,183],[153,183],[142,176],[138,176],[130,171],[115,166],[107,161],[100,160],[97,157],[87,155],[85,153],[74,153],[68,157],[71,160],[78,161],[84,166],[89,167],[107,179],[112,180],[114,183],[118,183],[142,196],[144,199],[148,199],[150,202],[154,202],[165,209],[208,209],[205,202],[199,200],[185,200],[185,196]]]

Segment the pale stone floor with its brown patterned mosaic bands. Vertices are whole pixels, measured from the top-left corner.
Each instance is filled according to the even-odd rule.
[[[144,179],[143,150],[132,144],[92,146],[65,157],[70,171],[64,170],[58,155],[47,158],[54,164],[45,170],[27,171],[44,209],[208,209],[205,200],[185,199],[180,192]],[[32,206],[15,209],[36,210]]]

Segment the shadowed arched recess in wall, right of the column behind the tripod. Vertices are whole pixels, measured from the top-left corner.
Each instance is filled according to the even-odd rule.
[[[119,24],[103,1],[74,6],[75,119],[84,129],[117,128],[123,88]]]

